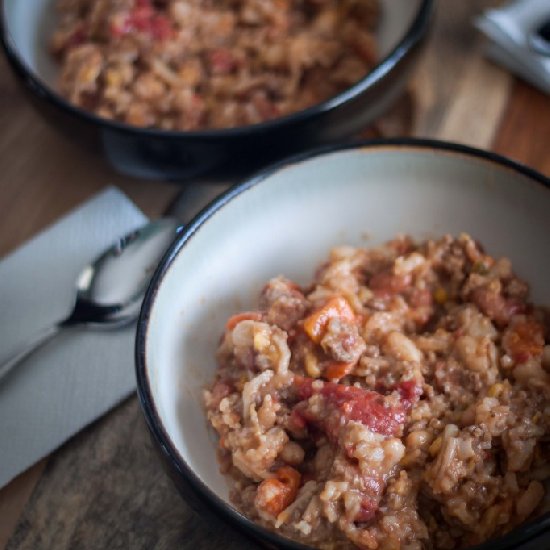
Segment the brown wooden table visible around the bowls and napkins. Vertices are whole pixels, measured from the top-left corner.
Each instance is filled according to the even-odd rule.
[[[459,141],[550,175],[550,98],[486,61],[471,26],[495,3],[440,3],[409,91],[368,135]],[[20,95],[3,59],[0,97],[0,256],[108,184],[151,217],[178,194],[175,185],[116,175],[60,137]],[[131,397],[0,490],[0,550],[251,547],[195,516],[159,464]]]

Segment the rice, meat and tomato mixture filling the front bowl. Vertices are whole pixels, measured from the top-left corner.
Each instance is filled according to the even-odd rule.
[[[231,499],[318,548],[464,548],[548,510],[550,316],[468,235],[333,250],[229,319]]]

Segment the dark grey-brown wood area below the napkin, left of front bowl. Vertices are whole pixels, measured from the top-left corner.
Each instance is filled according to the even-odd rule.
[[[49,461],[8,548],[252,548],[191,512],[160,468],[137,399]]]

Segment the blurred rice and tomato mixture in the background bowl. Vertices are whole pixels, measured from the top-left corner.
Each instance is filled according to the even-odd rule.
[[[60,92],[135,126],[270,120],[376,62],[377,0],[58,0],[58,13]]]

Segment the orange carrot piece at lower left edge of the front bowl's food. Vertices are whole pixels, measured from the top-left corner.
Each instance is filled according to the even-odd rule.
[[[277,517],[294,502],[302,476],[291,466],[283,466],[275,477],[265,479],[258,486],[256,506],[266,514]]]

